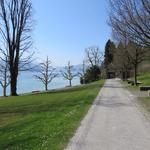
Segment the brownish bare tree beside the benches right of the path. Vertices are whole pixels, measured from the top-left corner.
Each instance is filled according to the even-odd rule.
[[[119,43],[115,52],[114,64],[125,73],[125,78],[129,70],[134,69],[134,83],[137,85],[138,66],[147,59],[147,49],[137,43]]]

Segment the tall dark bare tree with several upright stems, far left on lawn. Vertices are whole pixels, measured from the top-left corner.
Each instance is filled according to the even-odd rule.
[[[26,70],[33,54],[28,53],[32,45],[32,4],[30,0],[0,0],[0,35],[8,49],[11,95],[17,95],[17,78],[20,70]],[[4,46],[4,47],[5,47]],[[6,49],[1,52],[5,55]]]

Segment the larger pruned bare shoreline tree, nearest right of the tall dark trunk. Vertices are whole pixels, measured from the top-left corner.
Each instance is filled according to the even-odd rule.
[[[39,75],[35,75],[35,78],[40,80],[44,86],[45,91],[48,91],[48,85],[52,82],[54,78],[58,76],[57,73],[55,73],[56,68],[53,68],[51,66],[51,61],[47,57],[46,61],[40,63],[40,69],[39,69]]]

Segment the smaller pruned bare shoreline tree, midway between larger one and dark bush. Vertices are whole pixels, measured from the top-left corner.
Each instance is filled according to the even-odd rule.
[[[69,86],[72,86],[72,80],[77,74],[73,73],[73,66],[68,61],[68,65],[65,66],[64,71],[61,71],[62,76],[69,81]]]

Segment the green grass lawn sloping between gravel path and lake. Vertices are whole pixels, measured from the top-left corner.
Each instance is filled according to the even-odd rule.
[[[63,150],[104,81],[0,99],[0,150]]]

